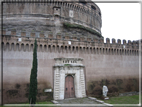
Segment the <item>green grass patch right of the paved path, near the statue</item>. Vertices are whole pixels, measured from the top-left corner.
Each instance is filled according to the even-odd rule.
[[[110,97],[104,102],[109,104],[139,104],[139,95]]]

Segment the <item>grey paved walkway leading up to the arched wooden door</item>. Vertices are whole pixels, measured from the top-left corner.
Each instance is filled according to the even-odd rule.
[[[87,106],[87,107],[100,107],[100,106],[106,106],[102,103],[99,103],[95,100],[89,99],[89,98],[68,98],[64,100],[56,100],[58,104],[63,104],[63,107],[65,106]],[[82,105],[81,105],[82,104]]]

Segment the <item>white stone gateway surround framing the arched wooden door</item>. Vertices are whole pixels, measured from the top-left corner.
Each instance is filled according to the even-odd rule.
[[[54,100],[64,99],[65,77],[72,75],[74,77],[75,97],[86,97],[84,66],[82,59],[78,58],[55,58],[54,66]]]

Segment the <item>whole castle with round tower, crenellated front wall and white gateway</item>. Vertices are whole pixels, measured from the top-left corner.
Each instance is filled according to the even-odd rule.
[[[37,100],[139,91],[139,41],[106,39],[91,0],[2,2],[3,103],[28,101],[37,39]]]

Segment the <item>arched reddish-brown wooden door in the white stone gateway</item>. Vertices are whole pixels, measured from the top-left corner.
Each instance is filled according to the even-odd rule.
[[[74,78],[69,75],[65,78],[65,98],[75,97]]]

